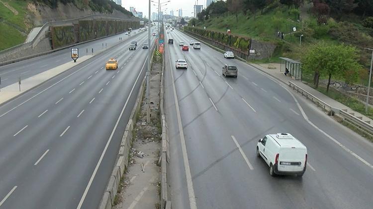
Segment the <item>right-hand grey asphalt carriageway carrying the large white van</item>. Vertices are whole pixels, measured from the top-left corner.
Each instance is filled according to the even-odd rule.
[[[202,44],[166,34],[165,111],[173,208],[371,209],[373,146],[275,79]],[[167,43],[167,40],[165,40]],[[176,69],[186,59],[188,69]],[[224,64],[238,78],[222,76]],[[175,95],[176,93],[176,95]],[[180,115],[179,115],[180,114]],[[291,133],[308,149],[302,178],[271,177],[258,139]]]

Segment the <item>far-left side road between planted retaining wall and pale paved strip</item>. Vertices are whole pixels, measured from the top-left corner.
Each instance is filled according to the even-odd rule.
[[[93,54],[99,51],[113,47],[121,42],[125,42],[128,39],[134,38],[141,34],[139,30],[133,30],[131,37],[128,37],[124,33],[120,33],[114,36],[109,36],[106,38],[98,39],[85,44],[80,44],[75,48],[79,48],[79,55],[82,57],[84,55],[91,55],[92,49]],[[121,40],[119,40],[121,38]],[[88,50],[88,53],[87,53]],[[51,69],[53,67],[59,66],[66,62],[72,61],[71,50],[65,49],[44,56],[38,56],[32,59],[27,59],[24,61],[0,66],[0,78],[1,86],[5,87],[10,84],[18,82],[18,79],[26,79],[45,70]]]

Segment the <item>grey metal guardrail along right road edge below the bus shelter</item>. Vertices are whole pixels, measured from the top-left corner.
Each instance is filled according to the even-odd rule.
[[[314,104],[318,107],[321,107],[324,112],[334,112],[338,117],[349,123],[350,125],[354,126],[355,128],[359,129],[360,131],[364,132],[365,134],[373,137],[373,125],[365,122],[364,120],[348,113],[347,111],[339,108],[335,108],[330,106],[329,104],[323,102],[322,100],[318,99],[317,97],[313,96],[311,93],[307,92],[306,90],[300,88],[296,84],[291,81],[288,81],[289,87],[292,88],[297,93],[302,94],[306,99],[311,100]]]

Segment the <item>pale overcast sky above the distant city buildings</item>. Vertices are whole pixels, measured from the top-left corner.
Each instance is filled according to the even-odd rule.
[[[152,0],[158,2],[158,0]],[[165,2],[168,0],[161,0],[161,2]],[[196,0],[170,0],[170,2],[167,3],[167,5],[163,4],[162,10],[164,8],[167,8],[166,13],[170,14],[170,10],[174,10],[174,15],[178,16],[179,8],[183,9],[183,16],[192,16],[193,12],[193,5],[196,2]],[[151,13],[157,12],[158,10],[158,3],[151,2]],[[153,6],[153,4],[157,4],[157,6]],[[206,5],[206,0],[198,0],[198,4],[203,5],[203,8]],[[136,8],[136,11],[142,11],[143,16],[148,17],[148,6],[149,6],[149,0],[122,0],[122,6],[129,11],[129,7],[133,6]],[[165,13],[165,12],[164,12]]]

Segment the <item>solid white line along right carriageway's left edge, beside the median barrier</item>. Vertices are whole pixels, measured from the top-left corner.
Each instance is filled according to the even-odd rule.
[[[170,56],[169,56],[169,61],[172,64]],[[172,87],[173,87],[173,91],[174,91],[176,116],[177,116],[178,126],[179,126],[179,136],[180,136],[180,141],[181,141],[181,146],[182,146],[184,169],[185,169],[186,178],[187,178],[186,180],[187,180],[189,205],[190,205],[190,209],[197,209],[196,201],[195,201],[195,195],[194,195],[194,189],[193,189],[193,181],[192,181],[192,178],[191,178],[190,166],[189,166],[189,160],[188,160],[188,154],[187,154],[187,145],[185,143],[184,130],[183,130],[183,124],[182,124],[182,119],[181,119],[181,115],[180,115],[179,101],[178,101],[178,95],[176,93],[175,78],[174,78],[173,70],[171,70],[171,77],[172,77]]]

